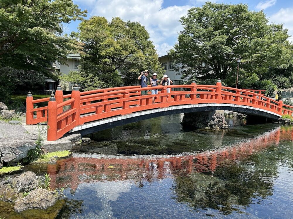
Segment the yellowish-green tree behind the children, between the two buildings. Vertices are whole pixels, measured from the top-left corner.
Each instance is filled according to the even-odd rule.
[[[163,74],[149,33],[138,22],[94,16],[73,35],[84,43],[81,75],[87,90],[131,85],[145,69]]]

